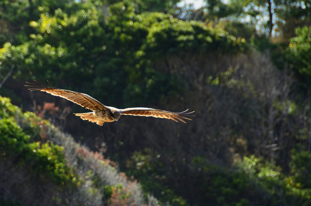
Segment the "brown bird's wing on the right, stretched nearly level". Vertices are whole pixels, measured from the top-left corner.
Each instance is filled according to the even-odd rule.
[[[185,113],[187,112],[188,109],[184,112],[168,112],[160,109],[152,109],[152,108],[145,108],[145,107],[136,107],[136,108],[126,108],[126,109],[121,109],[121,114],[124,115],[137,115],[137,116],[145,116],[145,117],[159,117],[159,118],[166,118],[166,119],[172,119],[174,121],[180,120],[184,123],[186,123],[183,119],[189,119],[188,117],[185,116],[194,116],[194,115],[189,115],[193,112]],[[189,119],[191,120],[191,119]]]

